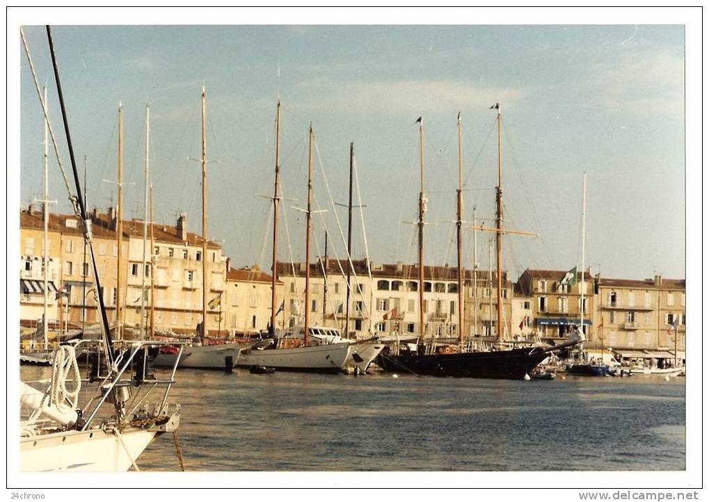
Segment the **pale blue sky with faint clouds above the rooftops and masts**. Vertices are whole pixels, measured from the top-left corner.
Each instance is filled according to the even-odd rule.
[[[26,25],[50,120],[69,166],[45,30]],[[353,258],[417,260],[423,117],[425,263],[456,262],[457,114],[464,219],[494,215],[502,110],[504,268],[581,267],[607,278],[685,277],[684,27],[623,25],[55,25],[89,207],[115,204],[123,103],[124,217],[143,218],[145,105],[155,220],[201,232],[201,86],[206,86],[208,224],[235,266],[270,268],[276,102],[281,115],[279,260],[304,259],[308,125],[315,132],[312,256],[345,258],[349,144],[362,208]],[[20,204],[42,190],[43,118],[21,45]],[[73,184],[72,184],[73,185]],[[328,189],[329,188],[329,189]],[[355,187],[355,205],[359,205]],[[69,212],[50,151],[53,210]],[[339,218],[339,224],[337,219]],[[366,233],[362,231],[362,220]],[[490,226],[491,222],[483,222]],[[342,228],[342,234],[340,233]],[[464,232],[463,263],[489,267],[490,233]],[[365,240],[366,236],[366,240]],[[474,240],[477,251],[474,251]],[[366,246],[365,246],[366,242]],[[367,248],[367,249],[366,249]]]

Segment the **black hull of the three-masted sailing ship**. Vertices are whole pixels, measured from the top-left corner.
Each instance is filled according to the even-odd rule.
[[[547,358],[544,348],[515,348],[462,354],[383,355],[376,364],[385,372],[433,377],[506,378],[521,380]]]

